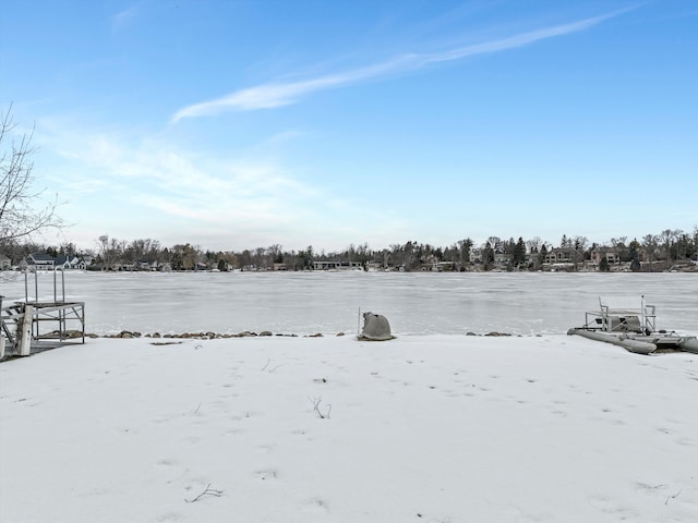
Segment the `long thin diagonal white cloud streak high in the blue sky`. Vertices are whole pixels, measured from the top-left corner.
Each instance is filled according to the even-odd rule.
[[[171,121],[172,123],[177,123],[185,118],[216,115],[225,111],[252,111],[288,106],[296,104],[302,96],[314,92],[342,87],[400,72],[414,71],[432,63],[456,61],[479,54],[516,49],[547,38],[578,33],[631,9],[635,8],[627,8],[568,24],[521,33],[481,44],[457,47],[441,52],[401,54],[386,62],[316,78],[262,84],[237,90],[221,98],[184,107],[174,113]]]

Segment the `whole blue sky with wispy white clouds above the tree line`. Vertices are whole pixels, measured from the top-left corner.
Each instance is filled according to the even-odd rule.
[[[210,250],[698,223],[698,2],[5,0],[72,226]]]

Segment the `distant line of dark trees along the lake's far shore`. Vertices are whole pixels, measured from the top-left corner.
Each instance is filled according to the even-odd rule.
[[[312,245],[300,251],[288,251],[279,244],[244,251],[203,250],[191,243],[163,246],[153,239],[119,240],[104,234],[96,239],[95,248],[79,250],[73,243],[59,246],[8,240],[0,244],[0,254],[15,263],[29,253],[52,255],[70,254],[92,259],[91,268],[120,270],[122,267],[156,268],[168,265],[172,270],[197,268],[219,270],[306,270],[315,260],[351,263],[360,267],[393,268],[406,271],[446,267],[446,270],[539,270],[551,254],[563,253],[574,270],[592,259],[594,253],[603,256],[599,270],[610,270],[614,264],[626,264],[633,270],[667,269],[675,264],[698,259],[698,224],[691,232],[666,229],[659,234],[641,239],[612,238],[604,243],[590,242],[587,236],[564,234],[557,245],[535,236],[529,240],[490,236],[477,245],[470,238],[447,246],[435,246],[418,241],[392,244],[374,250],[366,243],[349,245],[341,251],[317,252]],[[606,254],[607,253],[607,254]]]

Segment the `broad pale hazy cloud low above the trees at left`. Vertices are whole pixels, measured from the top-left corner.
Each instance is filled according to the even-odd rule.
[[[195,239],[215,248],[248,248],[280,238],[293,248],[311,241],[334,248],[337,231],[347,227],[338,212],[342,208],[358,215],[351,220],[352,236],[369,222],[374,234],[385,238],[395,230],[381,209],[361,208],[360,202],[338,207],[342,202],[332,191],[304,181],[267,155],[212,157],[163,136],[134,138],[47,119],[40,126],[43,150],[56,155],[53,185],[70,199],[62,215],[81,223],[82,232],[71,232],[71,241],[80,236],[84,245],[108,232],[127,239],[154,236],[166,244]],[[262,147],[268,149],[268,143]]]

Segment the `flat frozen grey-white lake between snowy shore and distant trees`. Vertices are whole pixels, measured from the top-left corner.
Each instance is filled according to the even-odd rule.
[[[24,275],[0,281],[5,303],[24,300]],[[57,281],[60,300],[60,273]],[[37,283],[39,299],[52,301],[52,273],[39,273]],[[34,275],[28,293],[32,300]],[[353,333],[359,309],[384,314],[404,336],[564,333],[583,323],[599,296],[635,297],[639,305],[642,294],[657,306],[658,328],[698,333],[695,273],[65,273],[65,299],[85,302],[86,330],[99,335]]]

